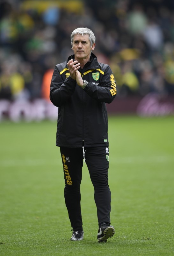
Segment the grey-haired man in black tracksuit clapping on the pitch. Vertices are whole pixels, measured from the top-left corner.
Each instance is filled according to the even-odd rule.
[[[83,240],[80,183],[83,159],[94,186],[98,216],[98,241],[114,235],[110,224],[111,191],[108,185],[109,143],[106,103],[116,95],[110,67],[99,63],[91,53],[95,36],[88,28],[76,28],[71,34],[74,55],[55,66],[50,100],[57,106],[56,146],[60,147],[64,170],[64,197],[73,234],[71,240]]]

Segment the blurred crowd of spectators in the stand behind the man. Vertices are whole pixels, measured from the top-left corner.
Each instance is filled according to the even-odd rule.
[[[1,0],[0,99],[49,101],[54,66],[73,54],[77,27],[94,32],[117,97],[174,96],[173,0]]]

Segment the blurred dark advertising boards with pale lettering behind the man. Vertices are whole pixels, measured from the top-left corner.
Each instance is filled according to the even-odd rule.
[[[139,116],[167,116],[174,115],[174,97],[160,97],[150,93],[145,97],[115,98],[107,105],[108,114],[136,114]],[[19,122],[25,120],[42,121],[57,120],[58,108],[50,101],[37,99],[29,100],[0,100],[0,121],[11,120]]]

